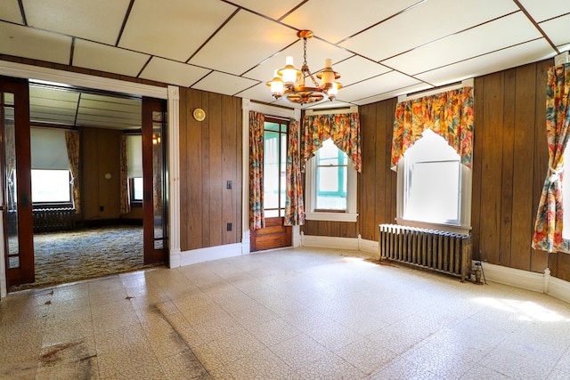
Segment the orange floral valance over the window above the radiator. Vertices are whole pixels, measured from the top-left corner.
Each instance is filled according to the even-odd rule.
[[[436,93],[396,105],[391,169],[421,133],[431,129],[457,151],[461,164],[471,167],[473,150],[473,87]]]

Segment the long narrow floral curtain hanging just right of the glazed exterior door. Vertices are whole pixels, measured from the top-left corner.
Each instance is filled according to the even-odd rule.
[[[285,190],[286,226],[305,224],[305,206],[303,205],[303,179],[299,159],[299,122],[289,120],[289,140],[287,141],[287,173]]]

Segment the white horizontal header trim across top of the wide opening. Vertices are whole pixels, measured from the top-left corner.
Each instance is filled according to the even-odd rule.
[[[94,88],[96,90],[112,91],[115,93],[128,93],[131,95],[149,96],[157,99],[167,99],[167,87],[143,85],[126,82],[109,77],[94,77],[73,71],[42,68],[39,66],[24,65],[10,61],[0,61],[0,75],[6,77],[21,77],[26,79],[39,79],[63,85],[76,85],[78,87]]]

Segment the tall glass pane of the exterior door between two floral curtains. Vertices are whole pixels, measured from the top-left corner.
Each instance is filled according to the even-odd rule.
[[[266,218],[285,214],[287,125],[265,117],[264,124],[264,211]]]

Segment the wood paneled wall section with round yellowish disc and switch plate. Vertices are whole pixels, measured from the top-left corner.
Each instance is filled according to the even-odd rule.
[[[197,108],[206,111],[204,121],[192,116]],[[241,117],[240,98],[180,89],[183,251],[241,241]]]

